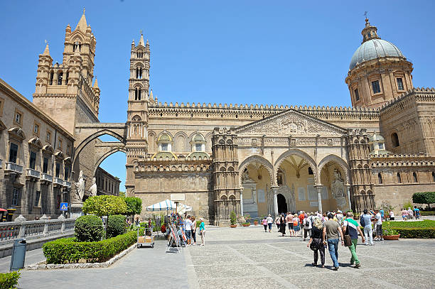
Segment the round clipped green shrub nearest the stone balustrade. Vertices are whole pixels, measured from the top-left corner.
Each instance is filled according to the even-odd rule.
[[[77,241],[100,241],[102,233],[102,220],[97,216],[87,215],[75,220],[74,236]]]

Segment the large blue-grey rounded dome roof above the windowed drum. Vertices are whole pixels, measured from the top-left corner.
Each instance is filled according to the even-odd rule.
[[[393,43],[380,38],[367,40],[361,44],[355,53],[353,53],[352,60],[350,60],[349,70],[362,62],[387,56],[404,58],[402,52]]]

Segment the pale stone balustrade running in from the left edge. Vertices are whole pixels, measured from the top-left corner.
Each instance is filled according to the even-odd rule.
[[[0,223],[0,241],[25,237],[43,237],[50,234],[63,234],[74,230],[75,219],[41,219],[37,221]],[[46,218],[46,217],[45,217]],[[1,242],[0,242],[1,245]]]

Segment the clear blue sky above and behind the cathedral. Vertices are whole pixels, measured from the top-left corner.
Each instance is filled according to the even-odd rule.
[[[350,106],[344,80],[364,11],[414,63],[414,87],[434,86],[434,1],[2,1],[0,77],[32,99],[44,40],[61,62],[65,27],[75,28],[84,6],[97,38],[102,122],[126,119],[140,30],[161,102]],[[123,153],[102,163],[121,190],[124,165]]]

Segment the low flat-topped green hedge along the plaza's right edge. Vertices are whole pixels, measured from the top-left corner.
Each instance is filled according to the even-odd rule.
[[[400,238],[434,239],[435,221],[423,220],[419,222],[384,222],[382,229],[394,229]]]

